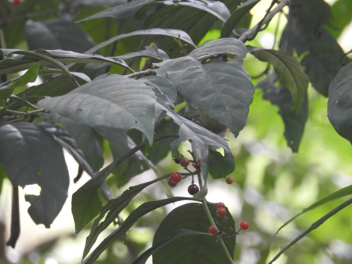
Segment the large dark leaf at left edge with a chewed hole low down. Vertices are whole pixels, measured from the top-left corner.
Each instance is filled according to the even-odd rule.
[[[28,213],[49,228],[67,198],[69,175],[62,147],[45,130],[18,122],[0,127],[0,161],[13,186],[38,184],[39,195],[26,195]]]

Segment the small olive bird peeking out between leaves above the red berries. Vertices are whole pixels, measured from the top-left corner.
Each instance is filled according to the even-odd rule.
[[[199,110],[187,111],[186,114],[184,114],[184,118],[206,128],[215,134],[218,134],[221,137],[224,137],[228,130],[227,126],[219,123],[214,118],[210,118],[209,115]]]

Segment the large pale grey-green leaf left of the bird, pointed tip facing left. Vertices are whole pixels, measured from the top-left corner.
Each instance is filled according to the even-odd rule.
[[[154,93],[143,82],[125,76],[99,76],[68,94],[38,104],[80,124],[136,128],[153,142]]]

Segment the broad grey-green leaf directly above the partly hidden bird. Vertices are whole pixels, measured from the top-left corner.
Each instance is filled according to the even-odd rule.
[[[247,122],[254,92],[241,63],[200,64],[186,56],[157,63],[159,69],[155,71],[168,78],[191,106],[228,126],[238,136]]]

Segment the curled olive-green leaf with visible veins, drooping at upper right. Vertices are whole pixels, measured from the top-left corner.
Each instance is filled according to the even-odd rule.
[[[295,112],[299,113],[306,98],[309,83],[309,78],[301,64],[293,56],[278,50],[250,49],[250,52],[260,61],[273,65],[281,82],[291,92]]]

